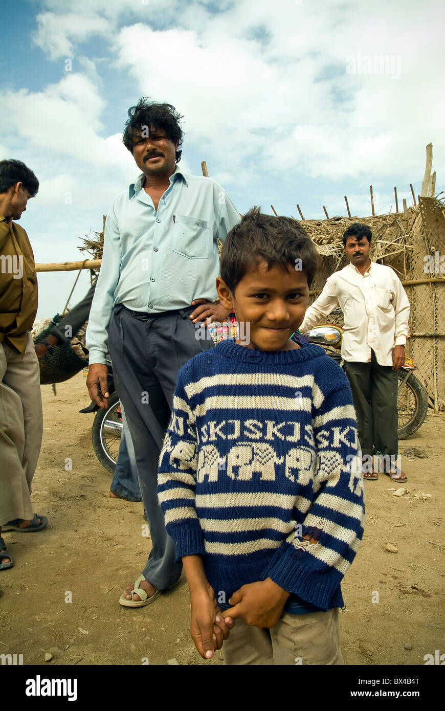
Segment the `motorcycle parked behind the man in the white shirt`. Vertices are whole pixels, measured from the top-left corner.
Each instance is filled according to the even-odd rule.
[[[314,326],[307,331],[311,343],[325,348],[327,355],[343,365],[343,359],[338,349],[341,348],[343,340],[343,329],[341,326],[324,324]],[[417,365],[414,365],[412,358],[405,358],[404,365],[397,370],[399,385],[397,387],[397,412],[399,417],[397,434],[399,439],[406,439],[424,423],[428,412],[428,394],[419,378],[414,375]]]

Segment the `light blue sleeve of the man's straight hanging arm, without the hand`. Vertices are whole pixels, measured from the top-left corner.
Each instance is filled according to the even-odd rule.
[[[106,363],[107,329],[113,310],[114,291],[119,281],[121,258],[119,226],[111,210],[105,221],[104,253],[87,326],[86,346],[90,351],[90,365]]]

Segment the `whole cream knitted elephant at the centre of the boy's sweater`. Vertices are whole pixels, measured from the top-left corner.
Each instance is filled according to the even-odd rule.
[[[283,461],[267,442],[242,442],[227,453],[227,476],[249,481],[253,474],[261,474],[261,479],[274,481],[275,464]]]

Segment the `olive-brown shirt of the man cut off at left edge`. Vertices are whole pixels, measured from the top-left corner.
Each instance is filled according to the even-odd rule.
[[[0,213],[0,343],[6,338],[22,358],[37,303],[36,264],[28,235]]]

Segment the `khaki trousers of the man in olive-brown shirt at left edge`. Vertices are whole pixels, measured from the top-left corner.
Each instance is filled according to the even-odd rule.
[[[33,518],[31,481],[43,434],[40,368],[27,334],[23,355],[0,343],[0,525]]]

